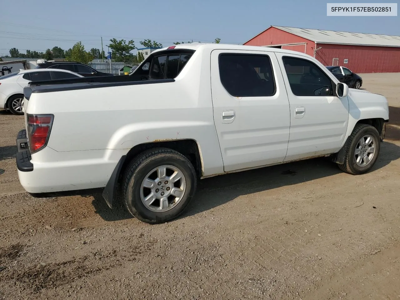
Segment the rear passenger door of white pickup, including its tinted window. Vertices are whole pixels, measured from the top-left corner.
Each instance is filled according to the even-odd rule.
[[[225,172],[284,160],[290,108],[274,52],[213,50],[211,91]]]

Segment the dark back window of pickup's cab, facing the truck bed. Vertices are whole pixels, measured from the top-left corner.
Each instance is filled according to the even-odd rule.
[[[153,59],[150,79],[174,79],[188,62],[192,54],[172,54]]]

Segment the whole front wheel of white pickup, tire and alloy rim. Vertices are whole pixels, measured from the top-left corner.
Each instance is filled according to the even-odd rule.
[[[353,175],[366,173],[371,170],[378,158],[380,150],[378,130],[367,124],[358,124],[344,147],[346,147],[344,164],[339,164],[339,168]]]

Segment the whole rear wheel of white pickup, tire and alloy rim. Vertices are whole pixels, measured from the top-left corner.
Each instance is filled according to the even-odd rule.
[[[128,211],[146,223],[179,216],[196,190],[192,163],[172,149],[144,152],[126,168],[122,193]]]

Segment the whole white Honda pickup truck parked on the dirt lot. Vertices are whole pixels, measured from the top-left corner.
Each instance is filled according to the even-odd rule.
[[[148,223],[176,218],[210,176],[317,156],[367,172],[389,120],[384,96],[349,89],[311,56],[227,44],[156,50],[129,76],[31,82],[24,97],[24,189],[101,188],[110,208],[122,198]]]

